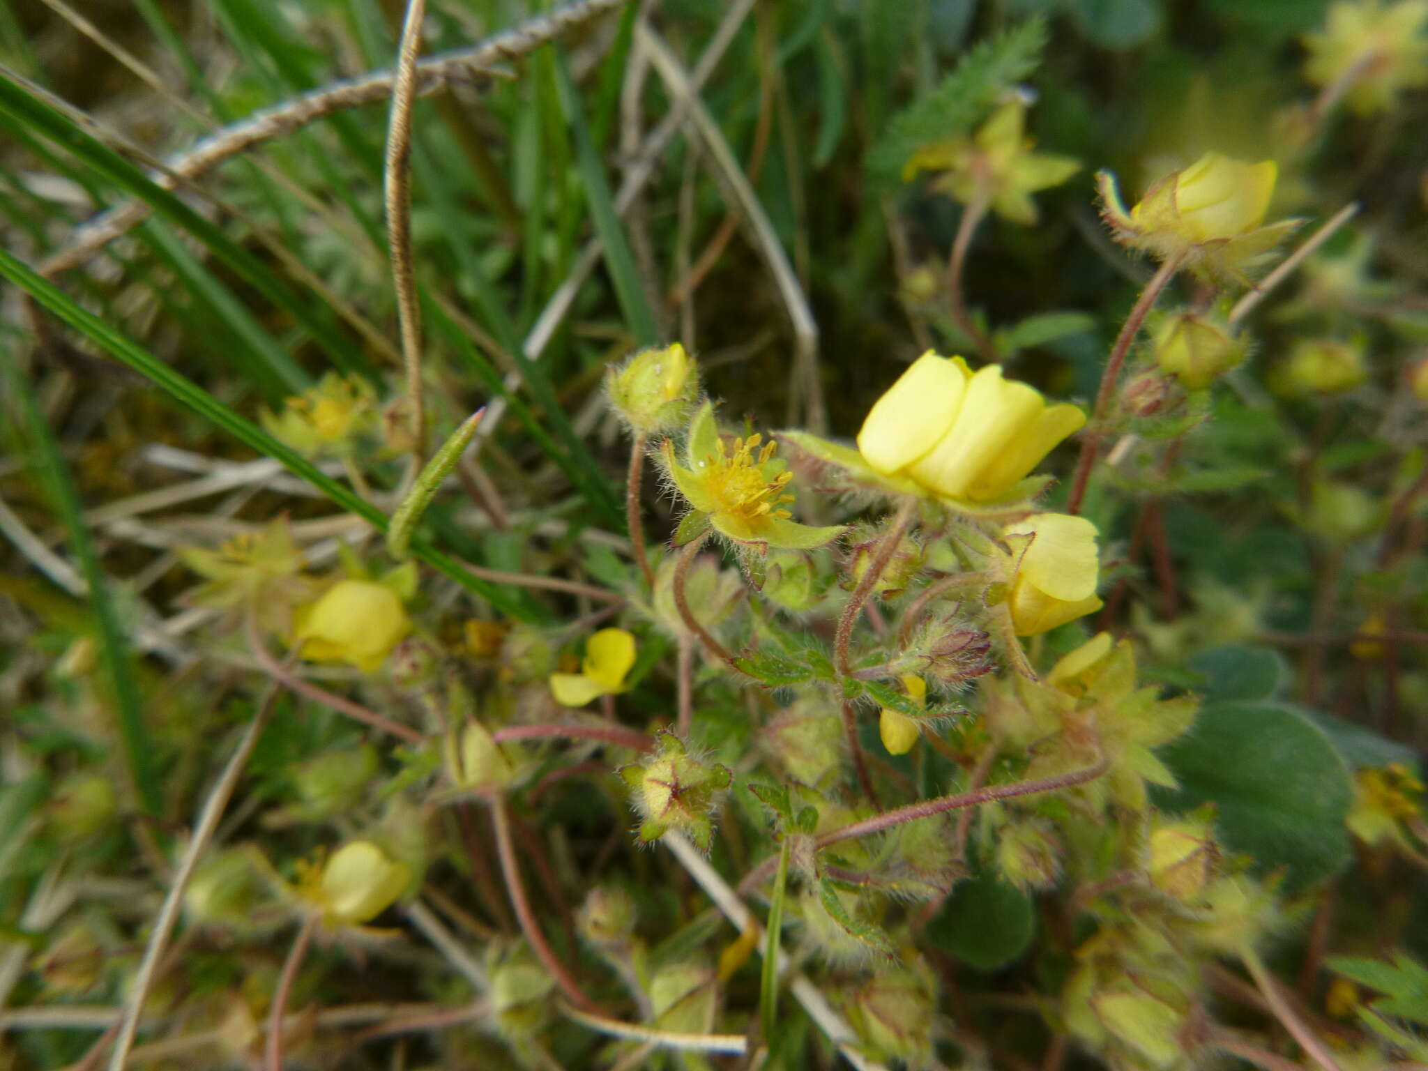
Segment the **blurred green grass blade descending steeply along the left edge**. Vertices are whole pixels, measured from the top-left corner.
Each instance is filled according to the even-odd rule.
[[[149,735],[149,727],[144,724],[144,704],[139,694],[139,680],[134,675],[129,644],[124,641],[124,631],[120,628],[119,614],[114,611],[114,603],[109,594],[104,568],[100,565],[89,526],[84,523],[84,507],[80,504],[70,467],[64,461],[54,436],[50,434],[34,391],[20,374],[9,350],[0,350],[0,364],[4,367],[10,396],[20,408],[30,443],[39,453],[41,477],[49,486],[50,497],[64,521],[64,527],[69,530],[70,547],[74,557],[79,558],[80,571],[89,585],[90,607],[94,611],[100,634],[100,664],[104,667],[104,675],[109,677],[113,688],[119,737],[124,745],[124,757],[129,760],[129,771],[134,778],[139,803],[144,811],[157,817],[163,813],[163,793],[159,790],[154,745]]]

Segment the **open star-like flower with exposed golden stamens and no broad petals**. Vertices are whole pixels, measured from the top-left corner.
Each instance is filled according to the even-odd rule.
[[[844,526],[815,528],[791,520],[787,506],[794,501],[788,483],[794,478],[778,446],[763,436],[735,438],[724,444],[714,423],[714,407],[704,403],[690,424],[685,464],[674,460],[674,447],[664,441],[664,467],[695,513],[707,514],[710,527],[721,536],[763,550],[813,550],[838,538]]]

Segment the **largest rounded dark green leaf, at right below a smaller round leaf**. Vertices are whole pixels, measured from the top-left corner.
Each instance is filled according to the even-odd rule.
[[[1180,788],[1151,790],[1155,805],[1191,811],[1212,803],[1221,843],[1252,855],[1261,873],[1287,867],[1289,888],[1328,877],[1348,860],[1348,767],[1294,707],[1211,703],[1160,757]]]

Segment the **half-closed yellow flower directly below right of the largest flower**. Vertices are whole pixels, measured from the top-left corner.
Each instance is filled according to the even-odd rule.
[[[1037,635],[1101,608],[1095,526],[1085,517],[1038,513],[1008,524],[1002,536],[1024,547],[1007,604],[1017,635]]]

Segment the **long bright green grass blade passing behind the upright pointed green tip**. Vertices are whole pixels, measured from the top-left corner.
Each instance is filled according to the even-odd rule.
[[[34,268],[10,256],[10,253],[3,248],[0,248],[0,276],[29,293],[36,301],[66,324],[77,330],[123,364],[156,383],[171,397],[191,408],[198,416],[211,420],[220,428],[260,454],[276,458],[290,473],[307,480],[307,483],[313,484],[313,487],[331,498],[337,506],[341,506],[348,513],[357,514],[378,531],[387,531],[387,514],[376,506],[333,480],[306,457],[273,438],[273,436],[253,421],[246,420],[230,410],[227,406],[203,390],[203,387],[170,368],[141,346],[131,341],[127,336],[110,327],[89,310],[74,304],[74,301],[71,301],[70,297],[59,290],[53,283],[39,276]],[[420,561],[424,561],[443,575],[461,584],[461,587],[467,591],[487,600],[503,614],[516,617],[521,621],[530,620],[531,615],[528,610],[526,610],[517,598],[513,598],[508,591],[471,575],[461,568],[458,561],[443,554],[420,537],[413,540],[411,553]]]

